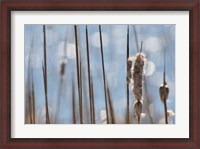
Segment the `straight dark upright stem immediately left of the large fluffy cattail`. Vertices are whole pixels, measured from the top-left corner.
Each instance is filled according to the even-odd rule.
[[[128,58],[129,58],[129,25],[127,27],[127,57],[126,57],[126,64],[128,65]],[[128,66],[126,65],[126,68],[128,68]],[[128,76],[128,69],[126,72],[126,75]],[[126,122],[127,124],[130,124],[130,110],[129,110],[129,86],[128,83],[126,85],[126,99],[127,99],[127,118],[126,118]]]

